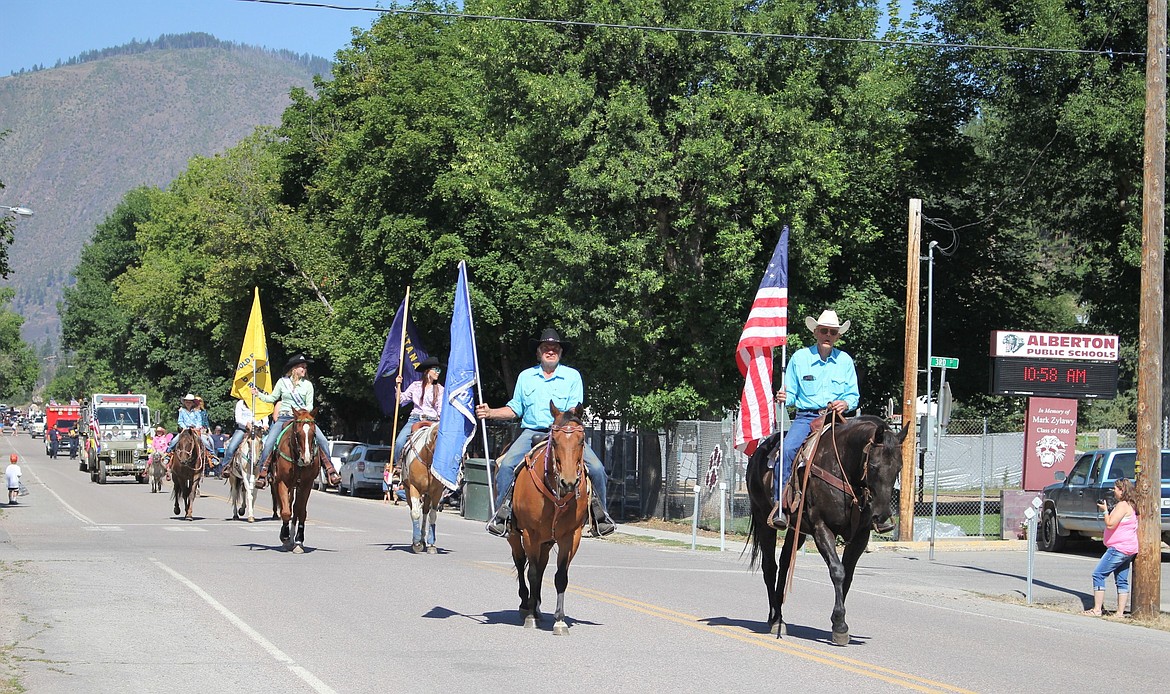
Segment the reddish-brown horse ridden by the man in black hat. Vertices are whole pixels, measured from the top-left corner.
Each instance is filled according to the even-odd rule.
[[[553,418],[549,438],[532,446],[524,456],[524,463],[516,470],[508,543],[511,544],[519,582],[521,617],[529,628],[536,627],[541,620],[541,584],[549,564],[549,552],[553,544],[557,545],[557,614],[552,633],[566,635],[569,564],[580,547],[591,489],[585,474],[584,407],[577,405],[562,412],[549,403],[549,408]]]

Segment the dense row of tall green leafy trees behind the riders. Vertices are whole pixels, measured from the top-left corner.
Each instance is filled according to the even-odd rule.
[[[901,394],[907,201],[921,198],[923,254],[938,242],[934,352],[959,357],[961,403],[1018,417],[1020,399],[986,396],[994,329],[1119,332],[1131,389],[1143,68],[1127,54],[1143,49],[1142,8],[923,5],[937,21],[885,36],[1100,53],[776,37],[874,39],[865,1],[586,1],[569,18],[750,36],[384,15],[275,131],[106,219],[64,305],[85,356],[75,377],[227,393],[255,284],[274,363],[310,353],[323,411],[369,422],[406,287],[443,355],[466,259],[489,403],[552,325],[594,412],[720,415],[738,403],[736,339],[789,225],[790,349],[804,316],[851,319],[840,346],[874,412]],[[1081,414],[1124,420],[1131,405]]]

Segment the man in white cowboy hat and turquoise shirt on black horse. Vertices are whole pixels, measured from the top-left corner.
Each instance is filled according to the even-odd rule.
[[[841,323],[837,311],[824,310],[819,318],[805,317],[805,325],[812,331],[814,344],[793,352],[784,370],[784,387],[776,392],[776,401],[796,407],[797,414],[784,434],[783,474],[775,480],[773,501],[776,507],[769,518],[775,528],[786,528],[787,518],[780,508],[780,493],[792,475],[792,461],[800,445],[808,438],[812,422],[821,414],[844,414],[858,407],[861,393],[858,390],[858,371],[853,357],[837,349],[837,341],[849,330],[849,321]]]

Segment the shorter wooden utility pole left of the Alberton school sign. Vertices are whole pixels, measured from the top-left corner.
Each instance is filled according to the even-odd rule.
[[[906,238],[906,357],[902,363],[902,426],[910,433],[902,442],[902,490],[897,510],[897,538],[914,540],[914,472],[918,469],[918,268],[922,266],[922,200],[910,199]]]

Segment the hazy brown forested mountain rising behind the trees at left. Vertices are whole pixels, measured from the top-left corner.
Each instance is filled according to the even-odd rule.
[[[192,157],[278,124],[289,91],[329,64],[183,34],[0,77],[0,205],[35,212],[9,249],[25,339],[56,343],[61,290],[126,191],[165,187]]]

